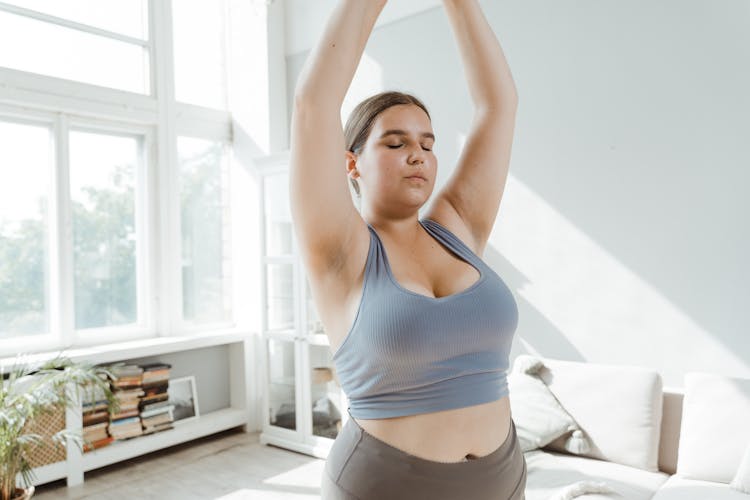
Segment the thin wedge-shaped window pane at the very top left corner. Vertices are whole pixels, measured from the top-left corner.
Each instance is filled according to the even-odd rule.
[[[146,0],[5,0],[55,17],[146,40]]]

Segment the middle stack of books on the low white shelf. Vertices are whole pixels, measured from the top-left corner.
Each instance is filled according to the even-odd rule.
[[[109,434],[114,439],[128,439],[143,434],[139,411],[143,369],[138,365],[120,363],[110,367],[114,376],[112,392],[120,404],[120,410],[110,415]]]

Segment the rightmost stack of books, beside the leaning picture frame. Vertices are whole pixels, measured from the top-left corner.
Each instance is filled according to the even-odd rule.
[[[167,363],[140,365],[143,369],[141,398],[141,424],[143,434],[152,434],[172,428],[174,405],[169,404],[169,369]]]

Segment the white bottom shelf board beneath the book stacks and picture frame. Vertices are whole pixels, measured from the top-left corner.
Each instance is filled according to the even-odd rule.
[[[177,423],[173,429],[124,441],[114,441],[108,446],[84,453],[83,470],[88,472],[144,453],[151,453],[168,446],[238,427],[246,424],[247,418],[246,410],[224,408],[201,415],[190,422]]]

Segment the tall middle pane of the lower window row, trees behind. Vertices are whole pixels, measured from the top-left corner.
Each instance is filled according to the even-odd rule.
[[[70,134],[75,327],[135,323],[138,137]]]

